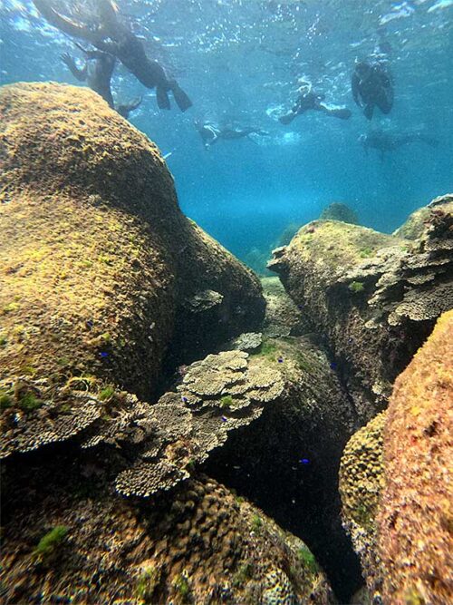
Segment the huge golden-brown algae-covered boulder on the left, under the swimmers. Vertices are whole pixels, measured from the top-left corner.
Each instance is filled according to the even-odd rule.
[[[92,91],[1,89],[0,161],[6,454],[91,426],[106,388],[149,398],[167,351],[259,325],[257,278],[182,215],[155,145]]]

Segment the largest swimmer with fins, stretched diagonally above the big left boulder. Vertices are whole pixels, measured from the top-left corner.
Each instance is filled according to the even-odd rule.
[[[173,93],[181,112],[191,107],[192,102],[176,80],[169,79],[163,67],[148,58],[142,42],[129,25],[120,20],[111,0],[98,0],[98,15],[88,15],[89,23],[61,15],[53,7],[52,0],[34,0],[34,5],[61,32],[85,40],[99,51],[115,56],[140,83],[147,88],[155,88],[159,109],[170,109],[169,92]]]

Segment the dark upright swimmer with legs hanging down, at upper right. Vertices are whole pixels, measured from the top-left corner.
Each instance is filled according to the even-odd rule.
[[[377,106],[382,113],[390,113],[393,105],[393,79],[385,63],[357,63],[351,79],[354,101],[363,107],[363,114],[371,120]]]

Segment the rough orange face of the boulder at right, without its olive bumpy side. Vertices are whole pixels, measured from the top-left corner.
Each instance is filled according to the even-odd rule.
[[[453,601],[453,311],[398,377],[385,427],[384,602]]]

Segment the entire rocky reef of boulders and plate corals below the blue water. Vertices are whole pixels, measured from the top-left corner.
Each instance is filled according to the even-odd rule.
[[[6,86],[0,120],[0,598],[451,600],[451,313],[411,361],[451,196],[313,221],[260,282],[95,93]]]

